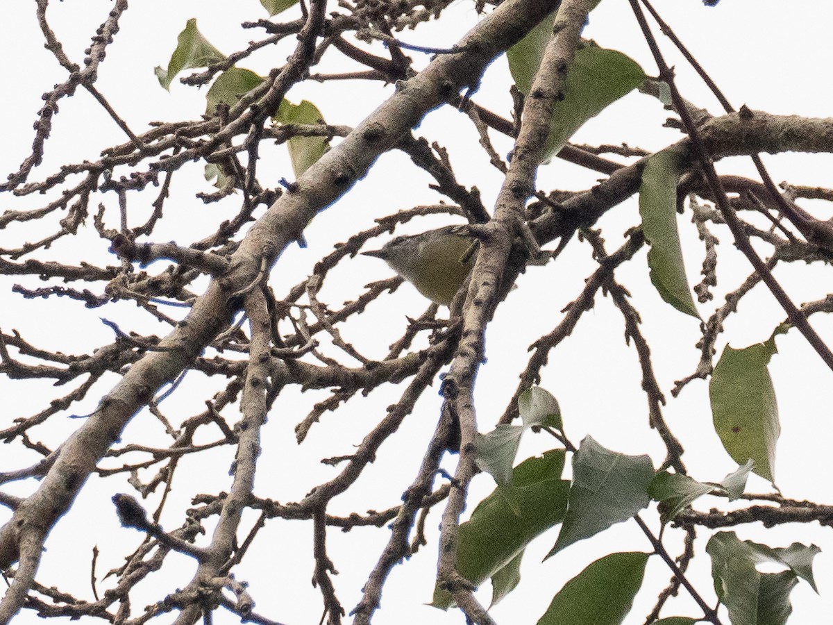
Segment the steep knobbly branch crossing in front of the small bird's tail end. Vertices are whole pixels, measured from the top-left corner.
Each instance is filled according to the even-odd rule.
[[[552,110],[561,99],[567,72],[581,42],[581,28],[590,10],[589,0],[565,0],[553,25],[553,36],[541,59],[526,97],[521,129],[512,151],[511,163],[498,194],[495,218],[481,227],[481,251],[471,271],[471,281],[462,310],[462,335],[451,370],[443,380],[445,408],[459,419],[461,429],[460,460],[457,463],[448,504],[442,515],[440,556],[437,577],[451,592],[454,601],[471,622],[491,623],[491,617],[476,601],[471,583],[456,572],[456,542],[460,515],[466,504],[469,482],[476,472],[474,444],[476,417],[474,383],[485,353],[486,324],[501,293],[512,242],[521,235],[532,241],[528,229],[524,237],[524,207],[535,190],[535,176],[543,157]],[[534,253],[535,251],[533,251]]]

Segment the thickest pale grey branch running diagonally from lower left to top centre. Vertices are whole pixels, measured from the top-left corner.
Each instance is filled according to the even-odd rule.
[[[309,42],[321,32],[324,4],[312,3],[296,52],[284,71],[300,76],[312,62]],[[232,322],[233,313],[242,302],[229,296],[252,282],[258,273],[262,250],[272,250],[268,258],[271,267],[312,217],[347,193],[367,174],[381,153],[395,146],[431,109],[457,92],[475,86],[486,66],[556,5],[556,0],[509,0],[501,4],[461,40],[455,53],[436,58],[418,76],[401,83],[387,102],[307,169],[292,193],[284,193],[277,199],[243,238],[230,259],[229,272],[212,280],[206,293],[195,301],[186,321],[162,340],[162,347],[175,349],[147,353],[125,373],[116,387],[102,398],[95,413],[68,438],[37,491],[0,527],[0,568],[8,567],[20,557],[24,535],[37,537],[34,557],[40,557],[40,547],[48,532],[72,505],[98,459],[119,438],[122,429],[147,405],[157,389],[176,379],[217,333]],[[219,138],[221,142],[225,140]],[[183,150],[181,154],[187,152]],[[0,609],[14,614],[21,607],[20,601],[21,595],[9,595],[0,603]]]

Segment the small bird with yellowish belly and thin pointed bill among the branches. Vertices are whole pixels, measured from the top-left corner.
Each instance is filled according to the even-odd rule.
[[[450,306],[474,266],[473,244],[465,226],[446,226],[393,238],[382,249],[362,254],[382,258],[431,302]]]

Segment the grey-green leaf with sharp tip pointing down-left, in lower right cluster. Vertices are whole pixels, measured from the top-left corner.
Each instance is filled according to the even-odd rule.
[[[646,455],[611,452],[588,436],[573,455],[572,468],[564,524],[546,557],[614,523],[626,521],[648,505],[647,490],[654,468]]]

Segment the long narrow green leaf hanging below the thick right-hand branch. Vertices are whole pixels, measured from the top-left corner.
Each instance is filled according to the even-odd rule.
[[[682,162],[676,149],[662,150],[647,159],[639,188],[639,213],[642,232],[651,245],[648,250],[651,283],[667,303],[681,313],[699,319],[700,313],[694,306],[686,278],[676,223],[677,184]]]

